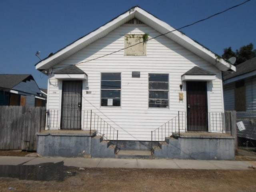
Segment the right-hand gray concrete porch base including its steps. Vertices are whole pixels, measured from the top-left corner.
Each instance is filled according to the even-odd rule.
[[[234,160],[235,139],[232,136],[221,138],[168,139],[154,150],[155,158],[199,159],[199,160]]]

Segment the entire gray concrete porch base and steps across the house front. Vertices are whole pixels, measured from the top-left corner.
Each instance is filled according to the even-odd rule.
[[[86,131],[37,133],[37,152],[42,156],[116,158],[115,142],[102,140]],[[160,147],[153,143],[154,158],[234,160],[235,138],[226,134],[180,135],[166,138]],[[118,141],[120,150],[150,150],[151,142]]]

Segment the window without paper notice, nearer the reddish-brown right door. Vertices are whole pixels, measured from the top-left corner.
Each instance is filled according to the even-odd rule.
[[[169,107],[169,74],[148,74],[148,106]]]

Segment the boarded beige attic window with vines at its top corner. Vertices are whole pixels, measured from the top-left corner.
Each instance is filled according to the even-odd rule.
[[[124,35],[125,56],[146,56],[146,42],[143,42],[142,34]]]

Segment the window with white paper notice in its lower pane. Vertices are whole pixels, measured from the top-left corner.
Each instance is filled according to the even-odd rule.
[[[121,73],[101,73],[101,106],[120,106]]]

